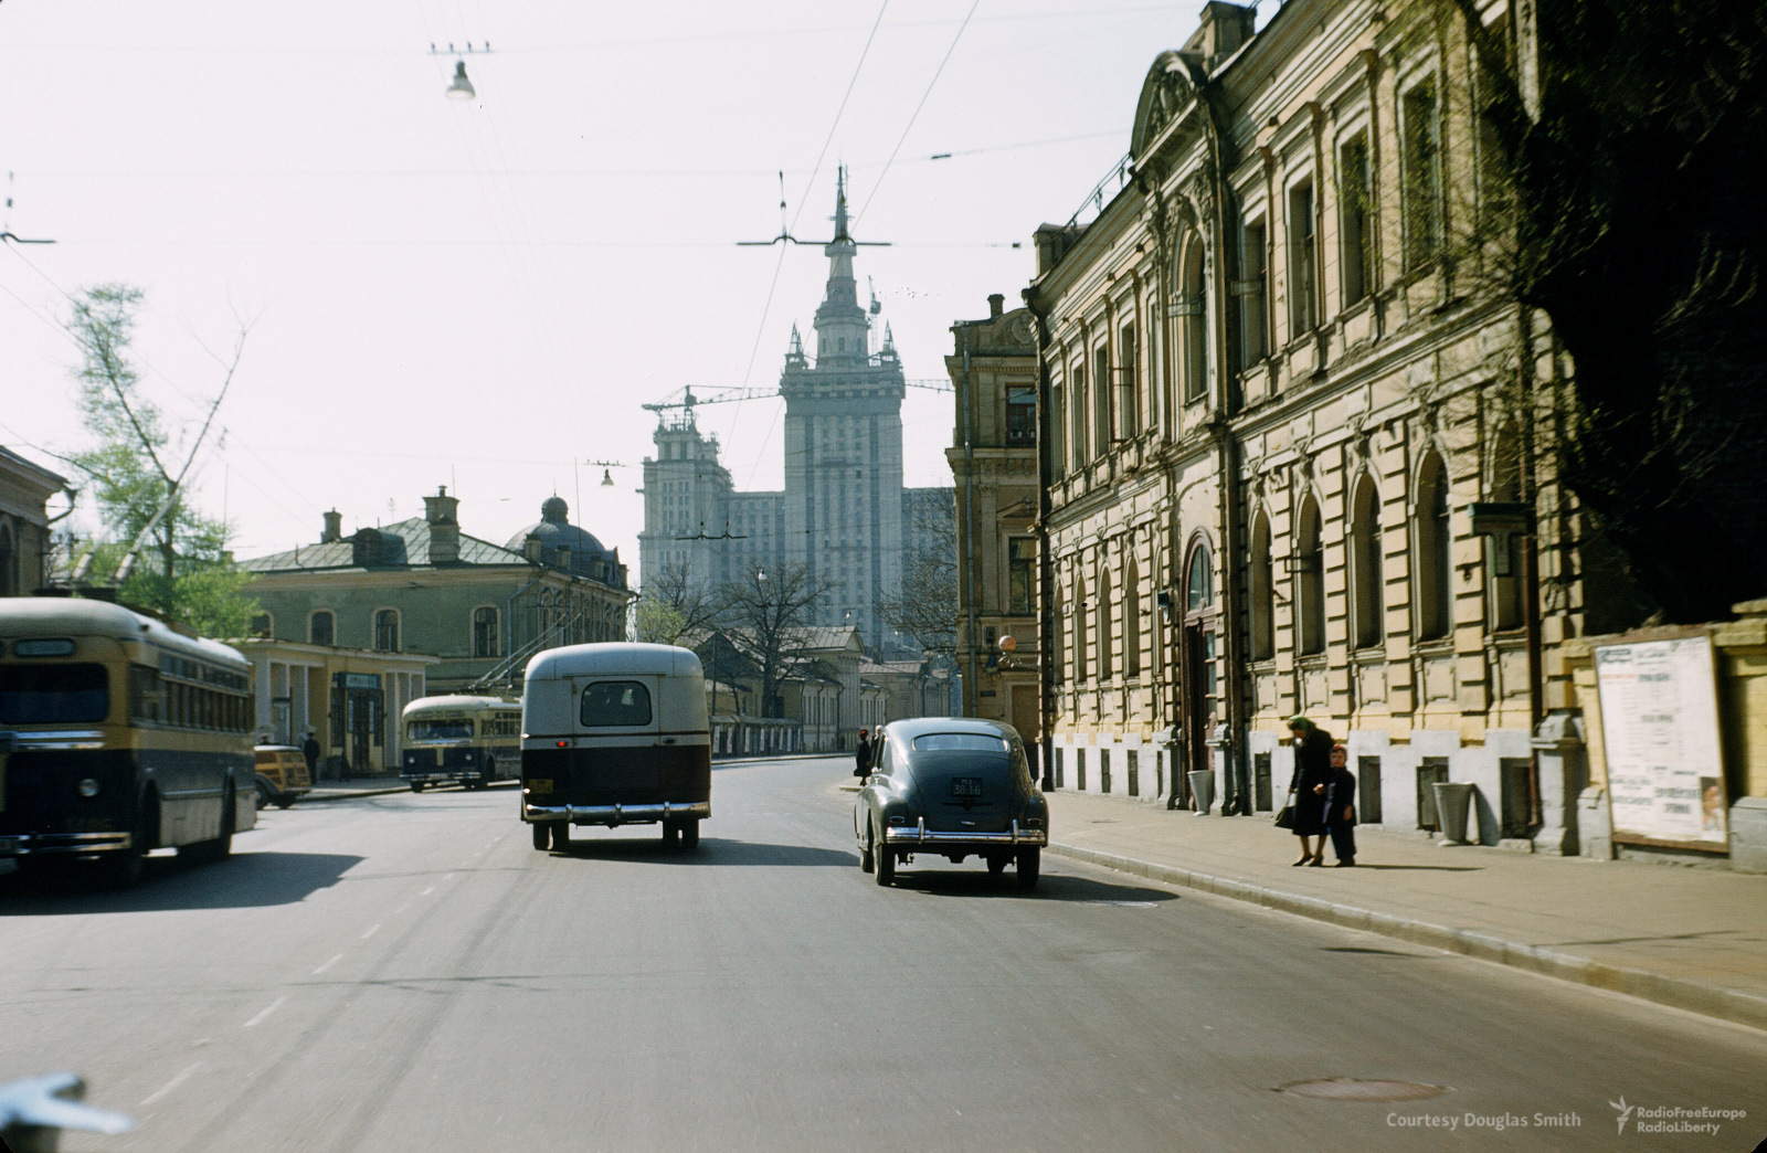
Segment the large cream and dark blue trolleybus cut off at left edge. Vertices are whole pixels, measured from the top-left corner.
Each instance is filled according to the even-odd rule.
[[[258,821],[251,661],[122,605],[0,599],[0,858],[141,877]]]

